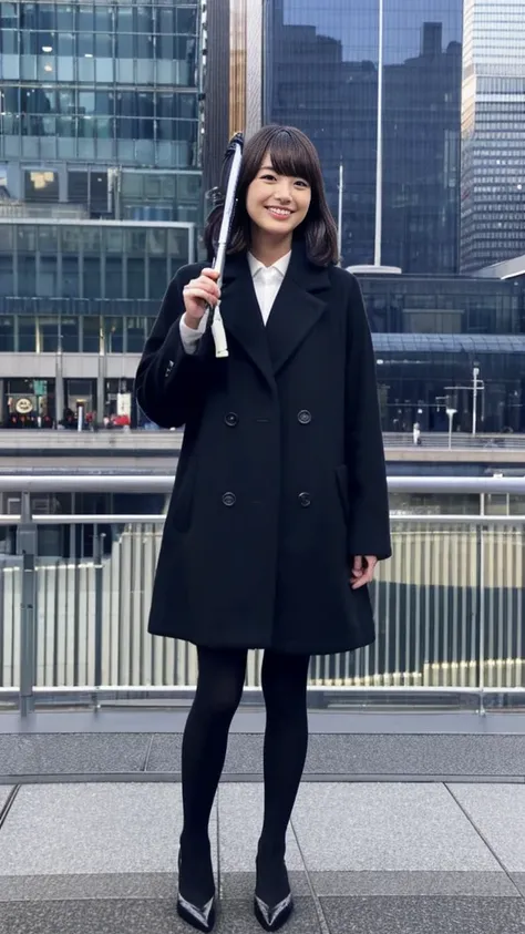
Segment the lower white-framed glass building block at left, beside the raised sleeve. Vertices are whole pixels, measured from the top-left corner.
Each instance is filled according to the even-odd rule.
[[[0,424],[116,414],[166,284],[195,260],[184,223],[0,218]]]

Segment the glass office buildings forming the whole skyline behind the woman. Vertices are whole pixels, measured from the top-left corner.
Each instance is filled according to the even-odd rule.
[[[470,432],[477,383],[474,429],[525,431],[523,11],[379,10],[0,4],[0,423],[143,423],[136,363],[229,135],[278,122],[318,147],[384,430]]]

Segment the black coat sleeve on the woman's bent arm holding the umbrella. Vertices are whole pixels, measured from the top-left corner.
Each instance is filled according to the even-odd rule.
[[[181,428],[198,413],[209,373],[209,329],[193,355],[186,353],[181,337],[186,279],[187,270],[185,276],[181,269],[169,283],[135,377],[137,402],[161,428]]]

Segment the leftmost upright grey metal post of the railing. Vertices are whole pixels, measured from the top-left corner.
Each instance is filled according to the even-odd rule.
[[[37,637],[37,553],[38,528],[31,515],[31,494],[22,493],[21,523],[18,526],[17,554],[22,555],[22,601],[20,619],[20,712],[34,710]]]

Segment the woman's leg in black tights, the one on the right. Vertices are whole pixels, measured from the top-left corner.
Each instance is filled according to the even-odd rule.
[[[289,893],[286,832],[308,749],[307,682],[310,656],[266,651],[265,820],[257,860],[257,895],[277,905]]]

